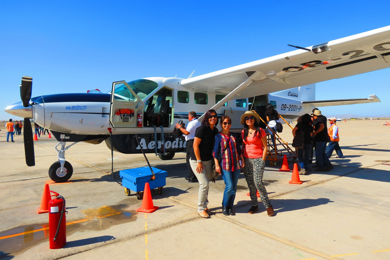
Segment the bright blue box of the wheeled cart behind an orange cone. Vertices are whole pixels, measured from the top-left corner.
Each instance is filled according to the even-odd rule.
[[[149,167],[119,171],[119,176],[122,178],[122,186],[136,192],[144,191],[146,182],[149,182],[150,189],[165,186],[165,178],[168,176],[167,171],[153,167],[152,169],[156,177],[156,179],[153,181],[150,180],[152,173]]]

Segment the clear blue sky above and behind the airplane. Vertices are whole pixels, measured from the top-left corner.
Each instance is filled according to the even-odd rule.
[[[390,2],[0,1],[0,119],[32,96],[110,90],[113,81],[187,78],[390,25]],[[390,69],[316,84],[316,99],[381,103],[324,115],[390,114]]]

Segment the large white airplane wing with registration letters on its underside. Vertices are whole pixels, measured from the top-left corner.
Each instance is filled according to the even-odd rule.
[[[183,79],[181,85],[199,92],[227,94],[252,76],[251,84],[234,97],[239,99],[389,68],[390,26],[307,49]]]

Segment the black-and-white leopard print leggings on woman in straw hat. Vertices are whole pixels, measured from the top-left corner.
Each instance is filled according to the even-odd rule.
[[[266,187],[264,187],[263,183],[263,174],[264,167],[266,166],[266,162],[263,158],[245,158],[245,167],[244,167],[244,175],[246,183],[249,187],[250,200],[252,201],[252,206],[257,206],[257,196],[256,190],[260,194],[260,198],[266,208],[271,207],[271,203],[268,199],[268,194]]]

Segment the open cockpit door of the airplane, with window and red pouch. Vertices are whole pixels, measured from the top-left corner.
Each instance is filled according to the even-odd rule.
[[[144,105],[125,81],[112,83],[110,122],[115,128],[143,127]]]

